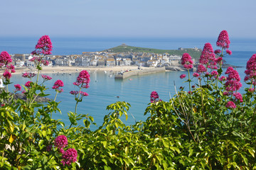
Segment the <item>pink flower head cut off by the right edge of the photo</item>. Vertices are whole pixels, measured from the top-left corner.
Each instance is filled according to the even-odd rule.
[[[250,80],[251,84],[256,85],[256,54],[247,61],[245,74],[245,81]]]

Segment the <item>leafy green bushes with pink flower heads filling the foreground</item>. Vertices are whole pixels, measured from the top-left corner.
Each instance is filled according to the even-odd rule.
[[[1,52],[6,89],[0,94],[0,169],[256,169],[256,54],[247,62],[248,87],[240,94],[238,72],[229,67],[222,75],[223,56],[232,53],[229,45],[225,30],[217,41],[221,50],[213,52],[206,43],[193,75],[189,72],[193,60],[184,53],[181,64],[188,77],[181,74],[181,79],[186,79],[189,91],[181,86],[169,101],[161,101],[153,91],[146,121],[125,125],[120,117],[127,118],[130,105],[118,101],[107,106],[110,113],[95,131],[90,130],[93,118],[77,111],[88,96],[84,90],[90,75],[85,70],[73,83],[78,90],[70,91],[76,101],[75,111],[68,113],[70,125],[52,118],[60,111],[55,99],[63,91],[63,81],[53,84],[53,101],[35,101],[36,96],[48,95],[44,82],[51,79],[47,75],[41,75],[42,82],[38,79],[52,47],[47,35],[38,40],[31,59],[38,74],[23,74],[28,79],[36,76],[36,81],[22,85],[26,101],[15,100],[9,92],[15,69],[9,64],[10,55]],[[14,86],[15,93],[21,91],[21,85]]]

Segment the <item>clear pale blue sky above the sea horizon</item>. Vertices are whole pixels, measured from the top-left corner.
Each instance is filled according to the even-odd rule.
[[[2,0],[0,37],[256,38],[255,0]]]

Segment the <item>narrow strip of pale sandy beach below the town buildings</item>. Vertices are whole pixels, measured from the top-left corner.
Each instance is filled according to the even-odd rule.
[[[141,69],[151,69],[152,67],[140,67]],[[83,69],[87,71],[107,71],[107,72],[123,72],[127,70],[138,69],[137,66],[116,66],[116,67],[43,67],[41,74],[50,74],[50,73],[73,73],[80,72]],[[36,68],[31,67],[16,67],[16,73],[13,74],[22,74],[24,72],[37,72]],[[1,70],[1,73],[3,70]]]

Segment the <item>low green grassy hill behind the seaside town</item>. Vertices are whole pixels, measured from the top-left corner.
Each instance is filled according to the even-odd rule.
[[[188,52],[189,55],[193,58],[199,58],[202,50],[197,48],[180,48],[180,50],[159,50],[154,48],[146,47],[133,47],[129,45],[119,45],[117,47],[112,47],[110,49],[104,50],[108,52],[152,52],[158,54],[169,53],[169,55],[183,55],[183,53]]]

